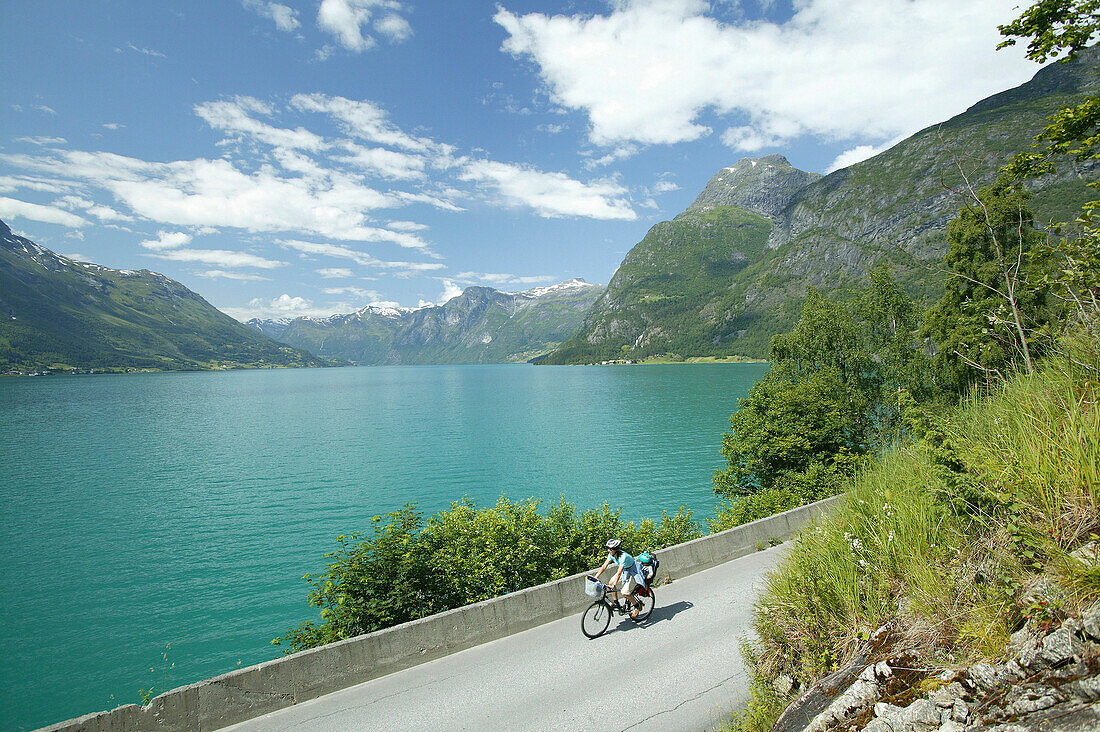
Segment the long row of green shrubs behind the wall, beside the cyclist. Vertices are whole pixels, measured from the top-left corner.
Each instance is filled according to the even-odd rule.
[[[691,511],[623,522],[606,503],[578,513],[564,499],[479,509],[465,499],[427,521],[413,505],[374,517],[367,536],[337,537],[328,566],[307,575],[319,618],[273,641],[287,653],[332,643],[591,570],[615,536],[635,554],[701,536]]]

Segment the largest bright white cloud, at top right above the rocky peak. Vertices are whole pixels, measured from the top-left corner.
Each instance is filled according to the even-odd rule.
[[[741,150],[802,134],[890,139],[1034,74],[994,50],[1016,0],[802,0],[788,22],[726,24],[701,0],[622,0],[606,15],[499,9],[504,51],[538,65],[553,101],[601,145],[675,143],[728,114]]]

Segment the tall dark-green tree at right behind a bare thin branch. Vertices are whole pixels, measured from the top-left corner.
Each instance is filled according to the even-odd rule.
[[[1027,371],[1047,320],[1041,251],[1030,195],[1002,176],[972,195],[947,226],[947,281],[922,335],[937,347],[936,364],[963,391],[978,379],[1003,378],[1015,361]]]

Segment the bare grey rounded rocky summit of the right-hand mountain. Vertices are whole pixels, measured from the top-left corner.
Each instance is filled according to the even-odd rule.
[[[779,154],[743,157],[718,171],[688,210],[736,206],[776,217],[794,194],[821,177],[820,173],[800,171]]]

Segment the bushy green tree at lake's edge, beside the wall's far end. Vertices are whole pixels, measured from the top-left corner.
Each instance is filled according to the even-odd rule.
[[[824,498],[859,456],[895,439],[913,396],[931,395],[930,363],[915,334],[916,306],[886,263],[844,302],[809,288],[798,325],[772,339],[771,371],[723,437],[727,467],[715,473],[714,490],[738,503],[752,500],[719,524],[754,514],[756,504]],[[773,490],[783,495],[760,495]]]

